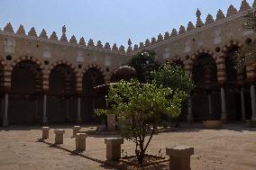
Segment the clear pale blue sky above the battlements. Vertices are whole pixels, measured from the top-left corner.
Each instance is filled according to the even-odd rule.
[[[38,35],[45,29],[61,36],[66,25],[67,37],[75,35],[96,43],[109,42],[127,47],[156,37],[187,22],[195,23],[197,8],[206,20],[208,13],[215,18],[218,9],[226,13],[230,4],[240,8],[242,0],[0,0],[0,28],[11,22],[14,31],[23,24],[28,32],[32,27]],[[247,0],[249,4],[253,0]]]

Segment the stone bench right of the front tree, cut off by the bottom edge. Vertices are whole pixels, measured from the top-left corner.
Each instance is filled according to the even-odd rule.
[[[186,146],[166,148],[166,155],[169,156],[170,170],[191,170],[190,156],[194,155],[194,148]]]

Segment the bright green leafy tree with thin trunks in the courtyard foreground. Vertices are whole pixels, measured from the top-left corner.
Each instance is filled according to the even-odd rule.
[[[123,138],[134,142],[135,155],[142,165],[154,131],[164,121],[162,115],[178,117],[186,97],[183,91],[161,87],[155,81],[142,85],[138,80],[122,80],[110,87],[106,97],[110,109],[96,110],[96,113],[115,115],[122,121]]]

